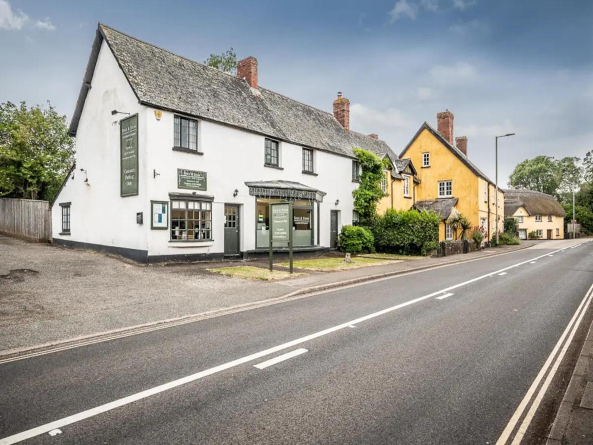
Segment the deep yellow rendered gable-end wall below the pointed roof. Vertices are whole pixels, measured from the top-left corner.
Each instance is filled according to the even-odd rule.
[[[422,154],[431,154],[431,166],[422,167]],[[456,208],[472,225],[479,224],[478,177],[445,147],[427,129],[424,129],[404,153],[417,167],[420,185],[416,187],[416,201],[438,198],[438,183],[452,180],[454,198],[459,198]],[[442,228],[444,230],[444,228]],[[439,239],[444,239],[439,236]]]

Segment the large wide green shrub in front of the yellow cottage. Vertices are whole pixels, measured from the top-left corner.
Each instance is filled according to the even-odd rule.
[[[388,209],[378,215],[372,231],[380,252],[400,255],[426,255],[439,246],[441,218],[435,212]]]

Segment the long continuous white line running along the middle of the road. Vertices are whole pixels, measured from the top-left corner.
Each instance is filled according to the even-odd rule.
[[[554,252],[556,253],[557,250]],[[12,436],[4,437],[0,439],[0,445],[9,445],[13,443],[20,442],[22,440],[26,440],[31,437],[39,436],[40,434],[47,433],[48,431],[54,430],[55,428],[65,427],[66,425],[73,424],[75,422],[79,422],[84,419],[88,419],[89,417],[93,417],[97,414],[101,414],[103,412],[111,411],[112,409],[119,408],[120,406],[128,405],[129,403],[137,402],[138,400],[145,399],[150,396],[154,396],[155,394],[167,391],[169,389],[173,389],[177,386],[181,386],[186,383],[195,382],[196,380],[203,379],[203,377],[211,376],[212,374],[219,373],[221,371],[225,371],[229,368],[233,368],[235,366],[247,363],[249,361],[257,360],[258,358],[265,357],[266,355],[275,354],[275,352],[282,351],[283,349],[292,348],[296,345],[299,345],[304,342],[308,342],[315,338],[319,338],[324,335],[328,335],[329,333],[336,332],[337,330],[345,329],[348,326],[358,325],[359,323],[366,322],[367,320],[371,320],[375,317],[379,317],[384,314],[388,314],[395,310],[401,309],[406,306],[410,306],[415,303],[419,303],[420,301],[426,300],[427,298],[436,297],[436,295],[440,295],[442,293],[457,289],[458,287],[465,286],[467,284],[471,284],[473,282],[479,281],[480,279],[484,279],[487,276],[492,276],[494,274],[499,274],[500,272],[507,271],[508,269],[512,269],[514,267],[520,266],[522,264],[528,263],[534,259],[540,259],[544,256],[548,255],[547,253],[544,255],[537,256],[530,260],[525,260],[523,262],[517,263],[512,266],[508,266],[503,269],[499,269],[498,271],[490,272],[488,274],[476,276],[476,278],[468,279],[467,281],[460,282],[458,284],[454,284],[449,286],[445,289],[438,290],[428,295],[423,295],[422,297],[414,298],[413,300],[405,301],[404,303],[396,304],[396,306],[388,307],[387,309],[383,309],[372,314],[368,314],[362,317],[359,317],[355,320],[350,320],[346,323],[342,323],[341,325],[332,326],[331,328],[323,329],[318,332],[312,333],[310,335],[305,335],[301,338],[294,339],[292,341],[277,345],[272,348],[264,349],[263,351],[254,352],[254,354],[246,355],[245,357],[237,358],[237,360],[232,360],[227,363],[200,371],[199,373],[191,374],[190,376],[182,377],[181,379],[172,380],[171,382],[160,384],[159,386],[152,387],[150,389],[146,389],[144,391],[126,396],[121,399],[113,400],[113,402],[104,403],[100,406],[95,406],[95,408],[90,408],[85,411],[81,411],[77,414],[69,415],[68,417],[63,417],[61,419],[55,420],[53,422],[49,422],[44,425],[40,425],[39,427],[31,428],[30,430],[22,431],[21,433],[13,434]],[[382,281],[379,279],[378,281]],[[347,287],[354,287],[347,286]],[[345,288],[347,288],[345,287]],[[335,291],[335,290],[332,290]],[[323,291],[322,291],[323,292]]]

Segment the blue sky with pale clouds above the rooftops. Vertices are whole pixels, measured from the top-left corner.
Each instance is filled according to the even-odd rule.
[[[593,149],[589,0],[0,0],[0,101],[50,100],[70,117],[97,22],[196,61],[233,47],[259,83],[331,111],[399,153],[425,120],[451,110],[455,136],[499,182],[538,154]]]

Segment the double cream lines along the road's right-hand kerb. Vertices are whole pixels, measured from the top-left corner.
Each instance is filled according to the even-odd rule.
[[[568,340],[566,341],[564,347],[562,348],[562,351],[560,351],[560,354],[556,358],[556,362],[554,363],[553,367],[551,368],[550,373],[548,374],[548,377],[546,378],[546,381],[541,386],[540,392],[534,399],[534,402],[531,405],[530,410],[527,412],[527,415],[525,416],[523,422],[521,423],[521,426],[519,427],[517,434],[515,434],[514,440],[512,441],[511,445],[517,445],[518,443],[521,442],[522,438],[525,435],[525,431],[527,431],[527,427],[529,426],[529,424],[531,422],[531,419],[533,419],[533,415],[535,414],[535,411],[537,411],[537,408],[540,405],[541,399],[543,398],[544,394],[546,393],[547,387],[550,385],[550,382],[553,379],[554,374],[556,374],[556,370],[560,366],[560,362],[562,361],[562,358],[566,354],[566,350],[570,346],[570,342],[572,341],[572,338],[575,335],[576,328],[578,328],[579,323],[581,323],[582,317],[584,316],[587,308],[589,307],[589,303],[591,303],[591,296],[593,295],[593,293],[591,292],[592,290],[593,290],[593,284],[591,285],[591,287],[589,287],[589,290],[585,294],[585,297],[582,299],[581,304],[579,304],[579,307],[576,309],[575,314],[572,316],[572,319],[570,319],[568,326],[566,326],[566,329],[560,336],[560,339],[556,343],[556,346],[554,346],[554,349],[552,349],[552,352],[550,353],[550,356],[547,358],[546,363],[544,363],[540,372],[537,374],[537,377],[535,377],[535,380],[531,384],[530,388],[527,390],[525,397],[523,398],[523,400],[521,400],[521,403],[519,403],[519,406],[517,406],[517,409],[515,410],[514,414],[512,415],[511,419],[509,420],[508,424],[506,425],[505,430],[502,431],[502,434],[498,438],[498,441],[496,441],[496,445],[504,445],[509,440],[509,437],[511,436],[512,431],[517,426],[517,423],[519,422],[519,419],[523,415],[525,408],[527,408],[527,404],[533,397],[533,394],[535,393],[535,390],[539,386],[541,379],[543,379],[547,370],[550,368],[550,365],[551,365],[552,361],[554,360],[554,357],[556,357],[556,353],[560,349],[560,346],[563,344],[566,336],[570,332],[570,328],[572,327],[572,332],[570,332]],[[583,309],[583,307],[584,307],[584,309]],[[581,310],[581,309],[583,309],[583,310]],[[579,316],[579,313],[580,313],[580,316]],[[576,323],[575,323],[575,319],[577,319],[577,317],[578,317],[578,320],[576,320]]]

